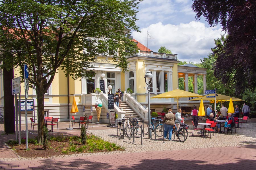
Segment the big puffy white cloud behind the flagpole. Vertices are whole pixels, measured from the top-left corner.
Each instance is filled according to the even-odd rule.
[[[191,21],[188,24],[162,24],[158,22],[141,29],[141,33],[134,32],[133,38],[146,46],[146,30],[155,39],[148,39],[148,48],[157,52],[161,46],[178,54],[181,61],[195,61],[207,57],[211,48],[215,47],[214,39],[224,34],[221,28],[206,27],[202,22]]]

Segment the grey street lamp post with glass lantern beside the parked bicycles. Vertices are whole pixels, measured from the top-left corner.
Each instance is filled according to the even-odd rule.
[[[150,121],[151,116],[150,116],[150,95],[149,95],[150,88],[152,88],[149,85],[152,83],[151,78],[153,78],[151,71],[147,71],[144,78],[145,78],[145,83],[148,85],[148,87],[144,87],[144,88],[146,88],[148,90],[148,139],[151,139],[152,138],[152,129],[151,129],[151,121]],[[148,80],[148,82],[146,80]]]

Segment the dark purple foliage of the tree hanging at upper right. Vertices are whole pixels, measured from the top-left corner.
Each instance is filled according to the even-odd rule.
[[[235,85],[235,94],[256,86],[256,1],[194,0],[196,19],[204,16],[211,26],[220,23],[228,37],[218,48],[214,75]]]

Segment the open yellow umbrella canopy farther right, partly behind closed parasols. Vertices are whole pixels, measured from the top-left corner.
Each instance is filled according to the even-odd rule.
[[[217,94],[217,93],[216,93]],[[208,95],[205,95],[203,96],[203,100],[209,100],[211,102],[214,103],[214,100],[215,100],[215,97],[214,97],[215,94],[208,94]],[[222,95],[222,94],[217,94],[218,96],[216,96],[216,102],[220,102],[220,103],[223,103],[225,101],[229,101],[230,100],[230,96],[227,96],[227,95]],[[212,97],[207,97],[207,96],[212,96]],[[200,100],[201,97],[198,97],[196,99],[191,99],[189,101],[197,101],[197,100]],[[239,98],[236,98],[236,97],[232,97],[232,100],[233,101],[243,101],[242,99],[239,99]]]

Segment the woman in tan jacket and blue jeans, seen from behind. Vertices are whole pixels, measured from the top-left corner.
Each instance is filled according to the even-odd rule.
[[[172,130],[175,125],[175,115],[172,112],[172,109],[169,109],[169,112],[164,115],[163,124],[164,124],[164,139],[166,139],[167,132],[169,133],[169,141],[172,141]]]

